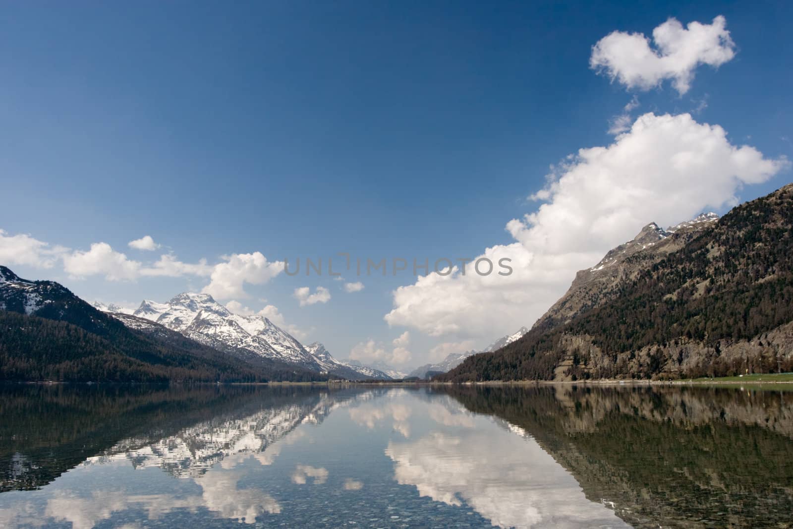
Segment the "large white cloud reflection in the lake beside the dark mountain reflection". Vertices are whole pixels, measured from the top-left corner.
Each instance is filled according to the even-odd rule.
[[[493,527],[626,527],[613,510],[586,500],[573,476],[538,443],[511,434],[511,425],[481,424],[449,410],[435,418],[454,431],[390,441],[385,449],[394,479],[416,487],[419,496],[465,504]]]

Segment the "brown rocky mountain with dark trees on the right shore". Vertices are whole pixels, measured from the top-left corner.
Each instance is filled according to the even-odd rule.
[[[793,184],[581,270],[523,338],[446,381],[697,378],[793,370]]]

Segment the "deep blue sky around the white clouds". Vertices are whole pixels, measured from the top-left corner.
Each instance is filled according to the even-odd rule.
[[[650,36],[668,17],[687,25],[717,15],[734,58],[696,67],[684,94],[668,79],[645,90],[589,66],[611,32]],[[167,251],[210,266],[255,251],[269,261],[475,257],[515,242],[505,225],[538,210],[527,197],[546,186],[550,165],[614,142],[609,124],[634,97],[632,119],[691,113],[766,159],[793,155],[791,23],[787,2],[9,3],[0,228],[77,251],[104,242],[140,262]],[[729,192],[749,200],[791,181],[789,167],[764,174]],[[722,197],[706,205],[729,207]],[[614,242],[653,220],[636,219]],[[128,247],[144,235],[163,246]],[[602,255],[611,242],[587,251]],[[134,305],[209,282],[10,264],[88,300]],[[554,281],[569,285],[568,275]],[[393,290],[415,278],[358,279],[365,288],[346,293],[327,277],[279,274],[246,284],[236,301],[278,307],[341,358],[369,339],[388,353],[409,331],[412,365],[440,343],[479,347],[539,316],[471,332],[410,318],[389,325]],[[331,299],[301,307],[293,291],[302,286],[324,286]],[[560,288],[538,293],[538,306]]]

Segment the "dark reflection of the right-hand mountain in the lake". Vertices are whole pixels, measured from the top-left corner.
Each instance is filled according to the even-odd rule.
[[[454,388],[634,527],[791,527],[793,393],[687,387]]]

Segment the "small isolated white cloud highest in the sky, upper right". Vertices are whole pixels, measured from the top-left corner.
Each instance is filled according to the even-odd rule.
[[[699,65],[718,67],[734,56],[724,17],[685,28],[670,18],[653,29],[652,43],[642,33],[609,33],[592,47],[589,65],[627,88],[649,90],[671,79],[675,90],[685,94]]]

